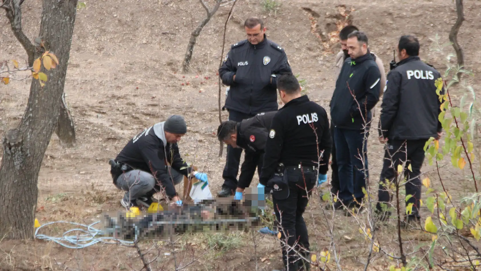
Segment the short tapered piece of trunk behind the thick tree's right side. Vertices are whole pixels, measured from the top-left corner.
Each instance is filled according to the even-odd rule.
[[[57,121],[57,130],[55,130],[60,144],[63,147],[71,148],[75,145],[75,126],[70,110],[65,102],[65,93],[62,93],[62,99],[60,100],[60,112],[59,119]]]

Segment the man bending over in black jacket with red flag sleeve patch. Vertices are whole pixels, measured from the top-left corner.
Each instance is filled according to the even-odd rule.
[[[276,113],[277,111],[259,113],[253,118],[244,119],[241,122],[227,120],[222,122],[217,129],[219,141],[232,148],[242,148],[245,153],[234,197],[236,200],[241,200],[242,192],[251,185],[256,167],[257,173],[259,176],[261,175],[267,136],[272,118]]]

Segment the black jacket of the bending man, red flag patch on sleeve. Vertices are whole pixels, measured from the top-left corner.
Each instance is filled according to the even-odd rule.
[[[266,148],[267,136],[272,118],[277,111],[259,113],[256,116],[244,119],[237,124],[237,145],[245,150],[244,162],[237,187],[249,187],[254,177],[255,168],[262,165],[262,157]],[[257,168],[258,172],[261,168]]]

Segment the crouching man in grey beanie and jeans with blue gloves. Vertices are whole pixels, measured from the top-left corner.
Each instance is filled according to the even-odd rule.
[[[175,185],[183,176],[193,174],[207,182],[205,173],[193,171],[180,157],[177,142],[187,132],[184,118],[173,115],[132,138],[124,149],[111,160],[114,185],[126,191],[120,203],[129,209],[137,200],[152,203],[153,194],[165,191],[168,200],[182,204]],[[167,165],[167,163],[170,164]],[[161,190],[162,189],[162,190]]]

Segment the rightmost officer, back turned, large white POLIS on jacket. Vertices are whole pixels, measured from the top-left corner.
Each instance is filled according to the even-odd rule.
[[[379,136],[380,141],[386,145],[376,211],[381,219],[390,215],[390,212],[382,208],[382,203],[391,200],[382,184],[386,179],[393,181],[397,166],[406,163],[406,195],[412,195],[406,206],[414,204],[412,213],[405,221],[409,224],[420,218],[419,175],[424,161],[424,145],[430,137],[441,136],[442,125],[438,120],[441,102],[435,86],[435,81],[441,78],[441,74],[419,59],[419,41],[415,36],[401,36],[397,49],[401,61],[388,73],[381,105]],[[441,93],[444,93],[444,89]],[[407,169],[409,164],[412,172]]]

